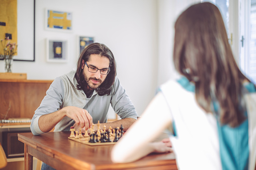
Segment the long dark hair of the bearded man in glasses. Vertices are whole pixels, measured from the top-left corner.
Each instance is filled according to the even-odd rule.
[[[110,72],[107,75],[105,81],[96,89],[98,94],[100,96],[103,95],[109,95],[111,92],[111,87],[115,82],[115,77],[116,77],[116,61],[114,58],[113,53],[111,50],[104,44],[100,43],[93,43],[90,44],[87,48],[85,48],[78,59],[77,62],[77,69],[75,73],[75,78],[77,81],[76,88],[78,90],[86,90],[87,83],[84,80],[84,75],[83,75],[83,69],[82,69],[82,60],[84,62],[87,62],[90,59],[91,54],[99,54],[100,56],[107,57],[109,59],[109,67],[110,67]]]

